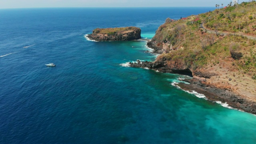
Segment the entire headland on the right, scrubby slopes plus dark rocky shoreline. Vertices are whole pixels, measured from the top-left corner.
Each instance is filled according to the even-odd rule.
[[[209,100],[256,114],[256,2],[229,5],[171,21],[156,30],[148,46],[154,62],[130,63],[160,72],[186,74],[195,90]]]

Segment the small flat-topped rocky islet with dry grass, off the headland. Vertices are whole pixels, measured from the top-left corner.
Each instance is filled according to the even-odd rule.
[[[140,39],[140,33],[140,28],[134,26],[123,28],[96,28],[92,31],[92,34],[88,34],[87,37],[95,41],[127,41]]]

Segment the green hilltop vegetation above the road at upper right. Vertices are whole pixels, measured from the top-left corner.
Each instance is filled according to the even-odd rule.
[[[231,3],[232,4],[232,3]],[[242,2],[200,14],[206,28],[223,32],[256,35],[256,2]]]

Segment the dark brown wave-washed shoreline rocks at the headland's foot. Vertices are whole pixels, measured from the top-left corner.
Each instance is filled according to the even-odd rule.
[[[154,53],[160,54],[162,51],[161,48],[152,45],[150,42],[148,42],[147,45],[154,49]],[[209,78],[216,76],[216,74],[192,71],[179,66],[170,67],[166,64],[166,61],[159,59],[155,62],[141,62],[140,60],[137,60],[137,62],[134,63],[130,62],[129,65],[131,67],[149,68],[164,73],[168,72],[191,76],[192,79],[184,80],[190,84],[179,83],[177,86],[183,90],[194,90],[200,94],[204,94],[208,100],[220,101],[222,103],[226,102],[232,108],[256,114],[256,102],[254,100],[250,100],[249,98],[237,94],[235,91],[232,91],[230,86],[217,86],[217,84],[209,84],[207,82]]]

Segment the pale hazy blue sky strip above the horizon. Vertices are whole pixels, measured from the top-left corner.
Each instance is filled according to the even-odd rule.
[[[215,7],[232,0],[0,0],[0,8],[57,7]],[[248,0],[239,0],[239,3]]]

